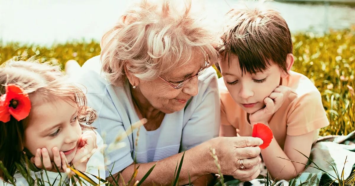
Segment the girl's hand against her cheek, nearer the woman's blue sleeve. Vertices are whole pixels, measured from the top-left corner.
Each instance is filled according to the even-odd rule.
[[[81,136],[78,149],[71,162],[74,165],[74,168],[85,171],[86,164],[96,149],[96,133],[91,130],[85,131]]]

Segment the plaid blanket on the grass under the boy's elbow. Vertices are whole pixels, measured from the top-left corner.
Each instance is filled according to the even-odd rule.
[[[228,180],[228,177],[226,177],[225,184],[230,186],[323,186],[329,185],[332,181],[338,183],[338,178],[346,180],[351,173],[355,174],[354,168],[355,131],[346,136],[331,135],[318,138],[312,146],[306,169],[295,179],[274,182],[268,179],[267,174],[261,174],[258,179],[248,182]],[[266,170],[265,172],[267,173]],[[220,183],[215,186],[218,185]]]

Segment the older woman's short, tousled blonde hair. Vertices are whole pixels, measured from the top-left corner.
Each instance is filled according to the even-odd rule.
[[[122,86],[125,69],[139,79],[153,80],[186,65],[196,52],[208,56],[211,65],[219,60],[214,49],[218,40],[210,25],[203,24],[206,19],[201,13],[200,18],[193,15],[191,0],[182,9],[169,0],[143,0],[124,12],[100,43],[103,71],[111,83]]]

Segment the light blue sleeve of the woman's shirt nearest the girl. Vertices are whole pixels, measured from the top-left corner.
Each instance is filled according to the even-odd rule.
[[[118,113],[108,92],[105,94],[87,94],[88,106],[98,112],[98,118],[92,124],[107,148],[105,148],[106,177],[118,173],[133,163],[130,141],[120,114]],[[124,135],[122,140],[115,142],[118,135]]]

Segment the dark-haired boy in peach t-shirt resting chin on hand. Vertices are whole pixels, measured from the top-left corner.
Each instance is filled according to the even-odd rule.
[[[291,71],[291,35],[278,12],[244,6],[227,16],[218,48],[220,136],[251,136],[254,124],[268,125],[274,136],[261,150],[263,161],[275,179],[292,179],[307,163],[301,153],[310,155],[319,129],[329,124],[321,94],[310,79]]]

